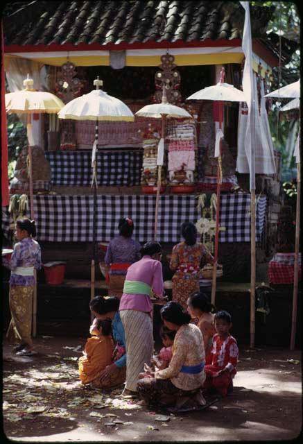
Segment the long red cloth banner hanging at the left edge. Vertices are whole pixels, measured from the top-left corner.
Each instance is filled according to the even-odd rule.
[[[1,21],[1,198],[2,206],[9,204],[8,191],[8,133],[6,123],[6,78],[4,74],[3,27]]]

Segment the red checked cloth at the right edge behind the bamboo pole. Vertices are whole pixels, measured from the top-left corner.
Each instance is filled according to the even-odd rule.
[[[301,253],[298,257],[301,279]],[[268,264],[268,280],[271,284],[293,284],[295,253],[277,253]]]

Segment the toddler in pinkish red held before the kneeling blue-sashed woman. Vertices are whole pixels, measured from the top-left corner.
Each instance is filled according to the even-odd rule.
[[[155,370],[164,370],[169,365],[171,357],[173,356],[173,340],[175,339],[175,333],[162,325],[160,328],[160,338],[164,347],[159,351],[157,355],[153,355],[150,360],[150,366],[144,365],[144,373],[139,374],[139,379],[144,377],[151,377],[150,373]]]

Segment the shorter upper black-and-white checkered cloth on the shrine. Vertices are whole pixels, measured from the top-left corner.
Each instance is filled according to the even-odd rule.
[[[99,186],[140,185],[142,151],[101,151],[97,153]],[[82,186],[92,183],[91,151],[49,151],[53,186]]]

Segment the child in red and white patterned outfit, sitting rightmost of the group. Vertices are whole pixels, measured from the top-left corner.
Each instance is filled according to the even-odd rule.
[[[216,334],[211,349],[211,364],[205,366],[206,379],[203,388],[215,388],[222,396],[232,391],[232,379],[236,375],[236,364],[239,357],[239,348],[236,339],[230,335],[232,316],[222,310],[215,314]]]

